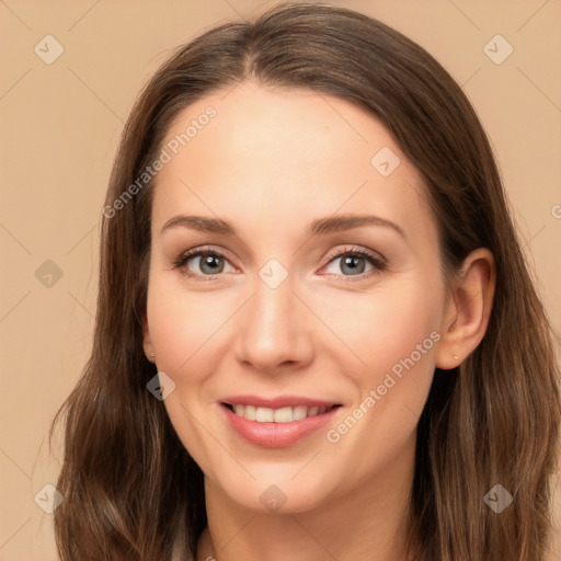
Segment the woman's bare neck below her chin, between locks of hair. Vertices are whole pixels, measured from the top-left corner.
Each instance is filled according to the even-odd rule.
[[[248,511],[205,478],[208,526],[197,561],[404,561],[415,439],[391,466],[301,513]],[[210,558],[210,559],[209,559]]]

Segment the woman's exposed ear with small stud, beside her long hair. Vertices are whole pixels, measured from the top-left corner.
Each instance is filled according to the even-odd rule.
[[[436,352],[437,368],[457,367],[479,345],[491,317],[495,282],[491,251],[486,248],[472,251],[463,261],[446,302],[443,336]]]

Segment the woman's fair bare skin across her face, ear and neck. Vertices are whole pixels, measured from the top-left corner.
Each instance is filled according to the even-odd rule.
[[[244,82],[185,108],[168,138],[208,105],[216,117],[158,174],[145,322],[147,357],[154,353],[175,383],[165,409],[205,473],[208,527],[197,559],[253,561],[266,551],[270,561],[402,560],[419,415],[435,367],[457,366],[484,335],[493,257],[474,251],[446,291],[420,175],[386,127],[350,102]],[[370,164],[382,147],[401,160],[386,178]],[[238,236],[161,231],[181,214],[220,217]],[[312,219],[341,214],[383,217],[405,238],[383,226],[306,236]],[[199,257],[173,266],[206,245],[226,253],[221,272],[202,268]],[[358,255],[364,268],[353,274],[341,254],[354,249],[383,256],[387,270]],[[332,250],[340,256],[327,259]],[[259,276],[271,259],[288,274],[274,289]],[[215,279],[188,278],[187,268]],[[328,430],[432,332],[432,348],[328,442]],[[262,448],[219,414],[220,399],[240,393],[343,407],[304,440]],[[272,484],[286,497],[276,512],[260,500]]]

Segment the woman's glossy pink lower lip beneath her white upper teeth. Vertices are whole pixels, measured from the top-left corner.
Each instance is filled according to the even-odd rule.
[[[335,407],[321,415],[307,416],[306,419],[290,421],[289,423],[259,423],[257,421],[250,421],[237,415],[221,403],[220,409],[224,411],[229,425],[245,442],[264,448],[282,448],[290,446],[319,431],[329,423],[341,408]]]

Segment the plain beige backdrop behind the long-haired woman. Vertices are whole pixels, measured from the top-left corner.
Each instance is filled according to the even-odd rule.
[[[176,45],[273,3],[0,0],[1,561],[56,559],[51,515],[34,495],[56,481],[47,430],[91,344],[98,226],[135,95]],[[525,251],[560,329],[561,3],[334,3],[401,31],[462,84],[496,150]],[[51,65],[34,51],[47,34],[64,47]],[[496,34],[514,47],[501,65],[483,51]],[[36,277],[47,260],[59,279],[53,264]],[[561,560],[561,547],[552,559]]]

